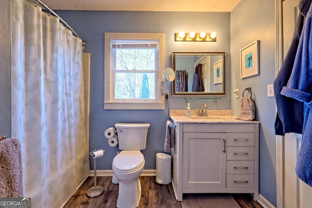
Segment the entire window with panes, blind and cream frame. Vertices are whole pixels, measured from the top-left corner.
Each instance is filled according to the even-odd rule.
[[[104,109],[164,109],[165,35],[105,33]]]

